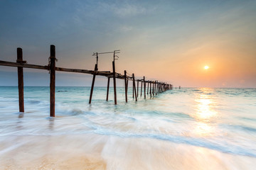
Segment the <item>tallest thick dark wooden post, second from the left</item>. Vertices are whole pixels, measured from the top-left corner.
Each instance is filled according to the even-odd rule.
[[[55,45],[50,45],[50,117],[55,117]]]

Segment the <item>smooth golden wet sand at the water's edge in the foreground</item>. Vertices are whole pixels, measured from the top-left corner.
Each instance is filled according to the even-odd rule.
[[[0,169],[254,169],[253,157],[146,138],[0,137]]]

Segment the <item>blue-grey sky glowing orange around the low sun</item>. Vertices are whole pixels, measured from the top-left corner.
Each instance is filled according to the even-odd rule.
[[[0,0],[0,60],[94,69],[93,52],[121,50],[116,72],[184,87],[256,87],[256,1]],[[204,69],[205,66],[209,69]],[[112,55],[99,70],[112,71]],[[90,86],[87,74],[58,72],[56,86]],[[123,86],[120,80],[118,86]],[[97,77],[95,86],[106,86]],[[25,86],[48,86],[47,71],[24,69]],[[0,86],[17,86],[0,66]]]

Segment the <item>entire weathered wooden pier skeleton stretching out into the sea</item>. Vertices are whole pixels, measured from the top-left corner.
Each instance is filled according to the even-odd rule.
[[[119,50],[114,51],[114,60],[115,60],[115,53],[119,53]],[[95,53],[98,55],[98,53]],[[94,55],[95,55],[94,54]],[[98,60],[98,58],[97,58]],[[48,58],[48,65],[41,66],[36,64],[27,64],[26,61],[23,60],[23,52],[20,47],[17,48],[17,60],[16,62],[6,62],[0,60],[0,65],[7,66],[7,67],[17,67],[18,68],[18,106],[19,111],[24,112],[24,97],[23,97],[23,68],[30,68],[30,69],[45,69],[50,72],[50,117],[55,117],[55,72],[76,72],[76,73],[83,73],[83,74],[92,74],[92,86],[90,90],[90,99],[89,103],[92,102],[92,94],[95,84],[95,77],[96,76],[104,76],[107,77],[107,98],[108,101],[109,96],[109,89],[110,89],[110,79],[113,79],[113,88],[114,88],[114,104],[117,104],[117,85],[116,79],[124,79],[124,93],[125,93],[125,101],[128,102],[127,92],[128,92],[128,82],[132,81],[132,91],[133,91],[133,98],[135,97],[135,101],[139,97],[139,82],[141,82],[141,91],[140,96],[142,97],[142,89],[144,87],[144,98],[146,99],[146,94],[152,96],[156,96],[157,94],[161,94],[166,90],[172,89],[171,84],[167,84],[166,82],[160,81],[150,81],[145,79],[135,79],[134,74],[132,76],[127,75],[127,71],[124,70],[124,75],[115,72],[115,63],[114,60],[112,62],[112,72],[102,72],[98,71],[97,63],[95,64],[94,70],[88,69],[67,69],[62,67],[55,67],[55,63],[57,61],[55,57],[55,45],[50,45],[50,57]],[[137,81],[137,88],[136,88],[136,81]],[[146,89],[147,84],[147,89]],[[146,92],[147,91],[147,92]]]

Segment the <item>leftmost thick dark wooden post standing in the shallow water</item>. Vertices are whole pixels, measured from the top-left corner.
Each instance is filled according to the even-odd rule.
[[[22,49],[17,48],[17,61],[23,63]],[[18,67],[18,106],[19,112],[24,112],[24,95],[23,95],[23,67]]]

